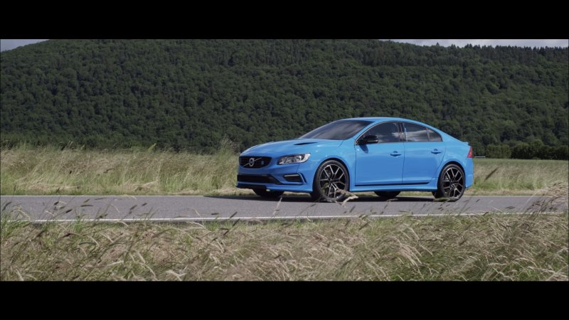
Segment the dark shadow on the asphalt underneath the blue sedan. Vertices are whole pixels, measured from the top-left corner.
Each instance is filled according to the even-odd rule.
[[[204,196],[204,198],[216,198],[216,199],[230,199],[230,200],[243,200],[243,201],[267,201],[267,202],[300,202],[300,203],[314,203],[310,196],[280,196],[278,198],[262,198],[260,196]],[[280,200],[282,199],[282,200]],[[374,202],[374,203],[390,203],[390,202],[435,202],[432,197],[424,196],[397,196],[393,199],[383,199],[374,196],[363,196],[357,199],[351,199],[350,203],[358,202]],[[341,201],[339,201],[341,202]],[[322,202],[325,203],[325,202]]]

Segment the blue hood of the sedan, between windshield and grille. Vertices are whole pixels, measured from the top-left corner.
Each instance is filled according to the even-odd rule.
[[[241,156],[286,156],[287,154],[310,153],[321,146],[339,146],[343,140],[326,139],[292,139],[279,142],[268,142],[253,146]]]

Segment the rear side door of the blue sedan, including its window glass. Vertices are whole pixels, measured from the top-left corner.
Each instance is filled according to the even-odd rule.
[[[445,156],[440,134],[419,124],[402,122],[405,137],[403,184],[429,183]]]

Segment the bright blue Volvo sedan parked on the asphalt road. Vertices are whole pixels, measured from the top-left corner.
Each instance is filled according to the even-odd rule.
[[[238,188],[262,197],[285,191],[316,201],[349,192],[431,191],[457,200],[472,186],[472,146],[421,122],[401,118],[341,119],[298,139],[252,146],[239,156]]]

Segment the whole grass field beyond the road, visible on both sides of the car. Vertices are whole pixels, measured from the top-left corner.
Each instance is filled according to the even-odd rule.
[[[3,195],[215,195],[252,194],[235,188],[238,157],[119,150],[86,151],[19,146],[0,150]],[[547,194],[568,183],[569,162],[474,159],[467,194]]]

